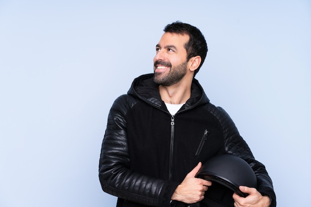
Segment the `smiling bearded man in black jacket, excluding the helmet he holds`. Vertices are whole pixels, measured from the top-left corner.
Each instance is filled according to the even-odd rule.
[[[212,183],[195,175],[202,162],[220,154],[243,158],[257,177],[257,190],[241,186],[249,195],[233,195],[234,207],[276,206],[264,165],[194,79],[206,54],[206,41],[196,27],[167,25],[156,45],[154,74],[136,78],[128,94],[115,100],[99,179],[103,191],[118,197],[117,207],[188,207],[202,201]]]

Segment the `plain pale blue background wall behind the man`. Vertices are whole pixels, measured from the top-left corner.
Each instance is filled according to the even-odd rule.
[[[0,0],[0,207],[115,206],[97,176],[108,111],[176,20],[205,35],[196,78],[278,206],[310,205],[311,1]]]

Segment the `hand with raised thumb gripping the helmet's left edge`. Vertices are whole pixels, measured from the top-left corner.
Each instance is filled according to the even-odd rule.
[[[202,163],[199,162],[199,164],[186,175],[182,183],[177,186],[171,200],[181,201],[186,204],[194,204],[204,199],[205,191],[207,191],[208,186],[212,185],[212,182],[194,177],[201,166]]]

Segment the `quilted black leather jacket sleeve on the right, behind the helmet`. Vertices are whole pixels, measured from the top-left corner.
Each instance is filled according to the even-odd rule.
[[[251,150],[243,138],[240,137],[232,119],[227,112],[217,107],[214,115],[221,122],[225,137],[225,150],[228,154],[234,154],[244,159],[254,170],[257,178],[257,191],[261,195],[270,197],[270,207],[276,207],[276,196],[273,190],[272,180],[266,171],[265,166],[255,160]]]

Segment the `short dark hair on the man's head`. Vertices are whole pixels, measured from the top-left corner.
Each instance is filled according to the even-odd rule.
[[[163,31],[173,34],[189,35],[189,41],[184,45],[187,51],[187,61],[195,56],[200,56],[202,60],[198,69],[194,71],[194,75],[196,75],[196,73],[199,71],[202,64],[204,63],[208,51],[207,44],[202,32],[195,26],[180,21],[167,24],[164,27]]]

